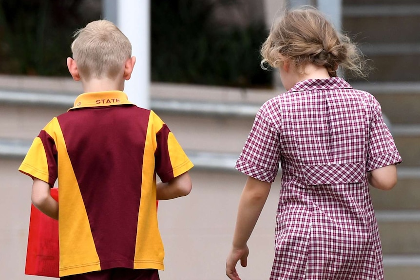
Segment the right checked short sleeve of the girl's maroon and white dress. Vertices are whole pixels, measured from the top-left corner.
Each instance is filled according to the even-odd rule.
[[[401,163],[391,132],[382,118],[381,105],[375,99],[373,117],[369,127],[366,171]]]

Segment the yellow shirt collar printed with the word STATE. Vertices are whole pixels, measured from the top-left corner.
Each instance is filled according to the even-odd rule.
[[[128,100],[127,94],[121,91],[82,93],[77,96],[75,104],[68,111],[78,108],[103,107],[113,105],[134,105]]]

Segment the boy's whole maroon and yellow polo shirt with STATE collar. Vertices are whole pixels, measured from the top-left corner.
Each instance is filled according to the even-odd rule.
[[[83,93],[35,138],[19,171],[58,178],[60,276],[113,267],[163,269],[156,176],[192,163],[163,121],[120,91]]]

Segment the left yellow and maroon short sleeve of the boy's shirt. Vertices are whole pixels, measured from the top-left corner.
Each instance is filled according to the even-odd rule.
[[[47,182],[50,187],[54,186],[58,174],[57,148],[51,136],[54,121],[55,119],[39,132],[19,167],[20,172]]]

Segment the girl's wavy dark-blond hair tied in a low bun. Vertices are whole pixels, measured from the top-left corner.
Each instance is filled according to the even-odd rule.
[[[331,77],[338,68],[354,76],[367,76],[365,59],[351,41],[339,34],[325,16],[313,7],[286,11],[275,21],[270,34],[261,47],[261,67],[277,68],[282,59],[290,59],[297,70],[313,63],[324,66]],[[268,64],[268,65],[267,65]]]

